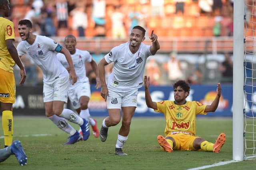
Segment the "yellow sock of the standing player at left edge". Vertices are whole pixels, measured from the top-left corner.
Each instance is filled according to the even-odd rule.
[[[12,144],[12,135],[13,135],[12,111],[3,111],[2,127],[4,131],[4,145],[10,146]]]

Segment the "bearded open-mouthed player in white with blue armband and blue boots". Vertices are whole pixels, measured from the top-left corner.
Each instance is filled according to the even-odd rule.
[[[74,144],[79,140],[87,140],[90,135],[89,123],[82,119],[70,109],[64,109],[64,103],[68,100],[68,81],[76,83],[77,76],[73,61],[68,49],[45,36],[32,34],[32,23],[30,20],[20,20],[18,31],[22,42],[17,46],[21,57],[28,54],[32,60],[42,69],[44,75],[44,105],[46,117],[48,117],[58,128],[70,134],[70,139],[65,144]],[[56,53],[60,52],[66,56],[70,66],[70,74],[58,61]],[[80,125],[83,137],[66,121]]]

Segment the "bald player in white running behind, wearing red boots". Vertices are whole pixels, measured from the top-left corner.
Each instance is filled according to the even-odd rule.
[[[89,79],[88,77],[86,77],[85,62],[89,62],[92,66],[92,70],[96,73],[96,89],[100,88],[98,65],[88,51],[76,48],[76,38],[74,36],[66,36],[64,39],[64,44],[71,54],[77,74],[77,82],[74,85],[72,85],[71,81],[69,83],[68,98],[70,99],[70,103],[72,103],[73,108],[76,109],[80,117],[89,121],[90,125],[92,126],[92,132],[94,137],[98,138],[99,130],[97,127],[97,122],[95,119],[92,119],[88,109],[88,103],[91,97],[91,90]],[[57,57],[60,63],[62,63],[62,65],[69,70],[70,67],[68,65],[68,61],[66,60],[65,55],[62,53],[58,53]],[[82,135],[81,129],[79,130],[79,132]]]

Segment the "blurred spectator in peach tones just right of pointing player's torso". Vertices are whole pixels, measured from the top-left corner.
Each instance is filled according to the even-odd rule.
[[[161,71],[159,69],[158,63],[154,58],[150,59],[146,63],[146,75],[150,77],[150,83],[152,85],[159,85],[159,79],[161,77]]]

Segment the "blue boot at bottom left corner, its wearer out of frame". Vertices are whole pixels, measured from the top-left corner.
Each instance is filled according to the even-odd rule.
[[[19,140],[14,140],[11,145],[11,152],[16,156],[18,162],[21,166],[27,164],[27,156],[21,146],[21,142]]]

